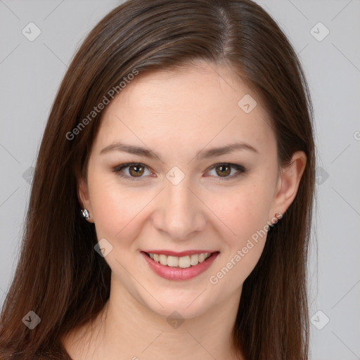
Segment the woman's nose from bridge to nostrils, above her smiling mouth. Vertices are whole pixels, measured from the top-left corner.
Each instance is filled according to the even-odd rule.
[[[188,181],[174,185],[165,179],[153,213],[153,226],[173,240],[187,240],[206,226],[206,206],[195,195]]]

